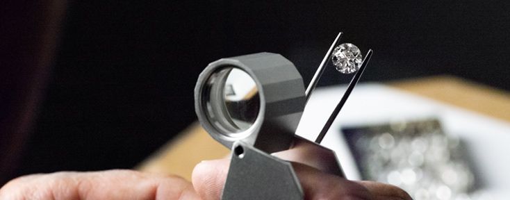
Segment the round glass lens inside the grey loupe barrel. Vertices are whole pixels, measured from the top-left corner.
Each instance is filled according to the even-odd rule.
[[[257,119],[261,99],[252,76],[236,67],[213,72],[202,90],[209,122],[227,136],[246,131]]]

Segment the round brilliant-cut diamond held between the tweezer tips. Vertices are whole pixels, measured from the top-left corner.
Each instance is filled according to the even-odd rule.
[[[343,43],[335,48],[333,54],[331,54],[331,60],[338,72],[351,74],[358,71],[361,63],[363,63],[363,55],[354,44]]]

